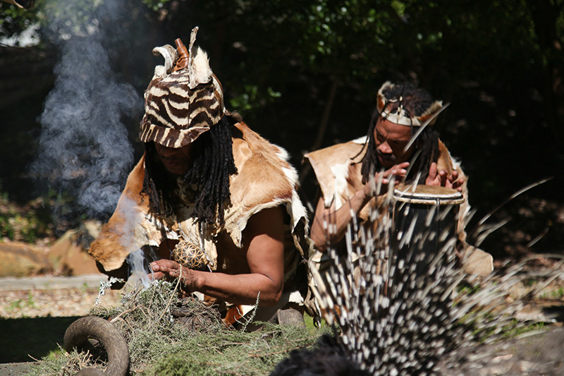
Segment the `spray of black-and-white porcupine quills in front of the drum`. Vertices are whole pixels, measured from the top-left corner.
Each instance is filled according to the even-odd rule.
[[[524,325],[514,320],[515,313],[538,291],[505,302],[510,287],[523,279],[517,275],[523,265],[485,280],[467,276],[456,255],[455,231],[448,226],[437,231],[434,226],[448,210],[437,205],[423,216],[402,214],[410,223],[399,232],[391,229],[388,216],[373,210],[371,221],[380,218],[379,225],[359,230],[353,222],[346,234],[346,257],[329,249],[333,265],[325,279],[315,276],[317,294],[329,311],[328,322],[336,323],[341,334],[321,339],[317,350],[301,358],[318,367],[312,357],[333,348],[358,369],[343,366],[348,370],[339,373],[327,368],[316,375],[471,375],[476,372],[472,368],[479,367],[474,360],[484,356],[484,346]],[[410,205],[403,208],[403,213],[409,211]],[[415,222],[424,228],[415,230]],[[429,248],[428,241],[434,238],[438,245]]]

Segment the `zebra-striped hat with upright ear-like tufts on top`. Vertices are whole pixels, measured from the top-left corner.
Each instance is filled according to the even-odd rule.
[[[183,147],[221,120],[226,109],[223,90],[207,53],[195,47],[198,28],[192,29],[188,49],[179,39],[178,52],[169,44],[155,47],[153,54],[164,57],[145,90],[145,116],[139,138],[166,147]]]

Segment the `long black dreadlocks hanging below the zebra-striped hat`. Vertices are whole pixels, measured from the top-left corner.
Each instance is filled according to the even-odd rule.
[[[192,217],[204,224],[225,223],[223,211],[231,207],[229,176],[237,174],[233,161],[231,128],[236,121],[231,116],[223,118],[209,131],[202,133],[191,151],[192,166],[183,176],[188,186],[196,186],[195,207]],[[145,180],[142,193],[149,196],[154,213],[168,216],[178,198],[173,194],[176,178],[160,162],[154,142],[145,143]]]

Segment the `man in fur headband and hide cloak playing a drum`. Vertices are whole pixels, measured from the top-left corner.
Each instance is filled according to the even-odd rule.
[[[457,235],[465,272],[491,273],[491,255],[466,243],[467,178],[432,127],[442,109],[426,90],[386,82],[366,137],[305,155],[321,188],[310,234],[318,250],[315,262],[327,248],[343,246],[354,219],[366,224],[371,207],[382,210],[388,185],[405,182],[462,193]]]

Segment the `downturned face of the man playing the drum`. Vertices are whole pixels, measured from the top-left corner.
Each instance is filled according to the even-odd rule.
[[[412,145],[407,152],[404,152],[404,149],[410,139],[410,127],[400,126],[379,118],[374,127],[374,141],[376,142],[376,157],[380,164],[389,169],[394,164],[409,161],[414,146]]]

